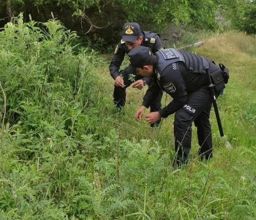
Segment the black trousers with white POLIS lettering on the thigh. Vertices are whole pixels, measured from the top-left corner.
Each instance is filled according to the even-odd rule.
[[[184,163],[188,159],[193,121],[200,146],[198,154],[207,160],[212,157],[212,131],[209,121],[211,106],[211,94],[206,86],[191,93],[187,104],[175,113],[174,137],[178,163]]]

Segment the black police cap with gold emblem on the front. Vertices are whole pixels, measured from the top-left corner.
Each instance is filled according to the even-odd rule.
[[[134,42],[139,36],[141,36],[141,28],[138,23],[125,23],[123,26],[123,41]]]

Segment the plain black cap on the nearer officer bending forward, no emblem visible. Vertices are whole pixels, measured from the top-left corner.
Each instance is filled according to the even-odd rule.
[[[151,51],[148,47],[138,46],[128,53],[131,66],[140,67],[153,64]]]

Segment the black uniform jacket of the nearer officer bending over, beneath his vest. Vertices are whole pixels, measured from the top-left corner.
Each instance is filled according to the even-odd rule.
[[[208,78],[205,72],[199,71],[199,62],[195,62],[194,64],[194,68],[198,70],[198,72],[193,72],[188,70],[186,59],[184,60],[183,58],[183,60],[180,59],[170,64],[169,60],[165,60],[162,57],[161,51],[156,53],[156,61],[153,65],[153,82],[144,95],[143,105],[148,108],[152,100],[156,97],[156,94],[162,89],[173,98],[169,105],[159,111],[159,114],[163,118],[166,118],[186,104],[188,95],[191,92],[196,91],[200,87],[207,86]],[[183,51],[182,54],[183,53],[186,52]],[[203,59],[207,62],[207,65],[209,65],[209,71],[218,69],[210,60]],[[201,62],[200,65],[203,66],[203,63]],[[201,68],[201,70],[203,70],[203,68]]]

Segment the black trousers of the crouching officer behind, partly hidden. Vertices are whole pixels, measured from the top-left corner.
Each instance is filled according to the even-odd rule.
[[[137,81],[139,79],[143,79],[143,76],[136,74],[136,69],[132,66],[127,66],[124,70],[120,71],[120,75],[122,75],[125,87],[118,87],[115,86],[113,98],[114,98],[114,104],[118,108],[122,108],[125,106],[125,100],[126,100],[126,88],[129,87],[134,81],[131,81],[130,74],[133,74],[135,76],[134,81]],[[150,86],[150,82],[149,82]],[[161,109],[161,99],[162,99],[163,92],[160,91],[159,94],[156,96],[156,99],[151,103],[150,105],[150,112],[158,112]]]

